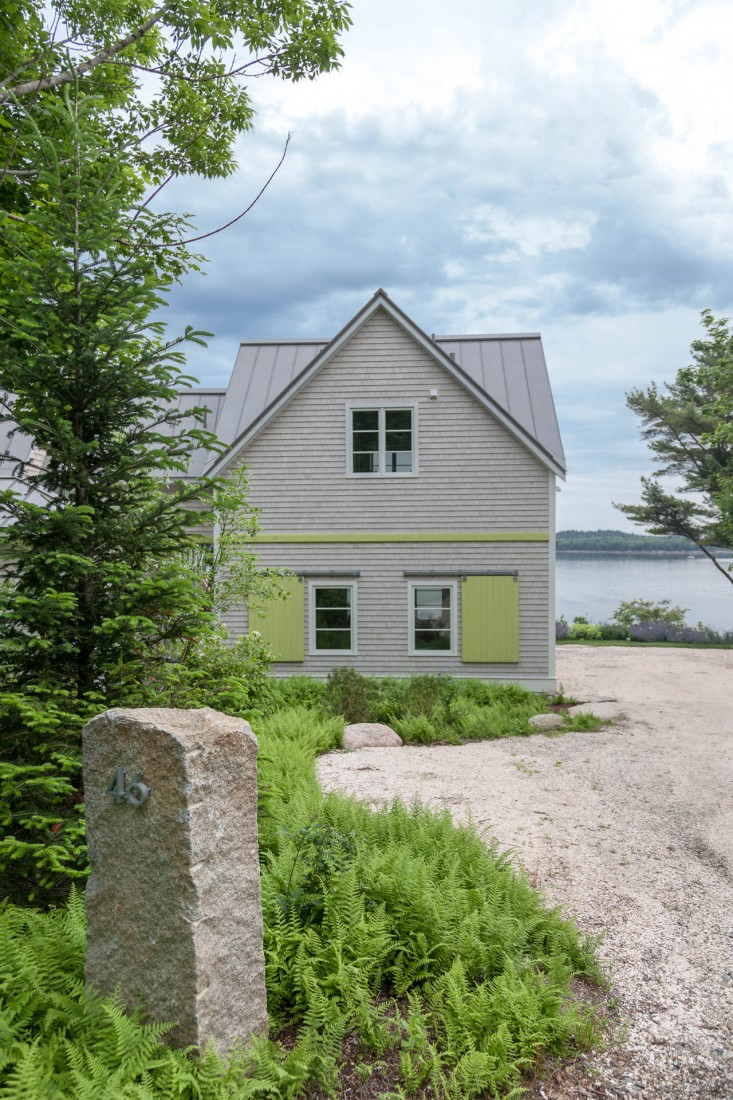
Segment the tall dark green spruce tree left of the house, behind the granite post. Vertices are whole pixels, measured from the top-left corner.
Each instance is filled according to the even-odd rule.
[[[205,410],[176,403],[192,381],[183,345],[204,334],[167,340],[160,320],[197,260],[161,246],[188,227],[141,205],[107,110],[64,89],[23,114],[33,200],[0,212],[2,461],[15,477],[0,495],[0,890],[17,899],[84,871],[83,723],[151,702],[151,685],[165,704],[166,670],[197,646],[221,663],[197,532],[217,490],[179,477],[196,448],[217,447]],[[243,495],[231,497],[236,512]]]

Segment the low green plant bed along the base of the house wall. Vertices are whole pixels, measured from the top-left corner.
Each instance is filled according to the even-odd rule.
[[[537,730],[529,718],[562,698],[527,691],[515,683],[484,683],[449,675],[365,676],[348,667],[327,681],[293,676],[275,681],[270,706],[304,705],[347,723],[383,722],[408,745],[463,745],[496,737],[526,737]],[[568,718],[568,729],[595,729]]]

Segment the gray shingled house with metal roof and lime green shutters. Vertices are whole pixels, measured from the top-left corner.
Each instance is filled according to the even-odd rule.
[[[207,472],[249,469],[261,561],[294,573],[227,620],[276,674],[555,686],[565,458],[538,334],[428,337],[378,290],[330,341],[244,341],[226,392],[184,400],[228,444]]]

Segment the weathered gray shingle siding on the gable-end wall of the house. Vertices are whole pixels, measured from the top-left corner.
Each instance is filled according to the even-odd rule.
[[[438,391],[437,399],[429,397],[431,389]],[[349,403],[375,407],[400,402],[417,409],[418,473],[349,476]],[[304,659],[278,662],[276,674],[326,675],[335,664],[350,664],[375,674],[452,672],[551,686],[555,474],[387,312],[373,312],[259,435],[232,455],[229,469],[241,463],[249,468],[252,504],[261,509],[258,552],[263,565],[285,565],[306,574],[291,608],[293,629],[302,637],[287,642],[288,651],[298,656],[302,645]],[[422,540],[296,541],[297,535],[376,539],[381,534]],[[429,540],[438,534],[444,541]],[[450,541],[451,534],[459,535],[460,541]],[[471,541],[471,534],[483,540]],[[267,535],[291,540],[267,542]],[[522,541],[523,535],[533,541]],[[490,536],[504,541],[488,541]],[[319,583],[355,584],[354,654],[309,653],[313,609],[307,574],[326,570],[342,570],[343,580],[319,578]],[[405,575],[419,571],[436,575]],[[461,583],[461,575],[490,571],[517,574],[518,652],[507,642],[493,647],[500,660],[478,660],[475,647],[481,645],[482,631],[471,626],[479,640],[471,642],[469,660],[463,662],[461,600],[472,590]],[[353,572],[359,575],[347,578]],[[416,581],[455,585],[455,656],[409,656],[408,593]],[[473,591],[491,600],[489,587],[485,582]],[[511,593],[508,604],[505,595],[501,598],[506,623],[512,615]],[[276,627],[276,637],[285,645],[288,614],[276,610],[269,627],[256,615],[248,623],[248,613],[241,608],[228,616],[227,625],[233,636],[248,625],[265,636]]]

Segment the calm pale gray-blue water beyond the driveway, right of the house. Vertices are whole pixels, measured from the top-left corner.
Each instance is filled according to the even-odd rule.
[[[669,600],[689,608],[690,626],[733,630],[733,584],[707,558],[559,553],[556,578],[557,616],[568,623],[576,615],[605,623],[623,600]]]

